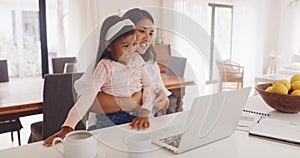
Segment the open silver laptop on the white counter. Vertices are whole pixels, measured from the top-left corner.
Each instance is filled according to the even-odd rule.
[[[236,129],[251,87],[196,97],[183,127],[169,126],[152,133],[152,141],[182,153],[229,137]]]

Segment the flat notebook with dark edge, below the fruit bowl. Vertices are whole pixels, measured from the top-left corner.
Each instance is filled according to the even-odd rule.
[[[250,130],[249,135],[300,144],[300,123],[265,118]]]

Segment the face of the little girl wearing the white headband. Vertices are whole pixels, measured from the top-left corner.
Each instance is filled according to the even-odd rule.
[[[132,34],[124,38],[117,39],[108,45],[107,50],[111,52],[113,59],[122,63],[127,63],[128,56],[126,56],[126,54],[129,55],[136,51],[136,35]]]

